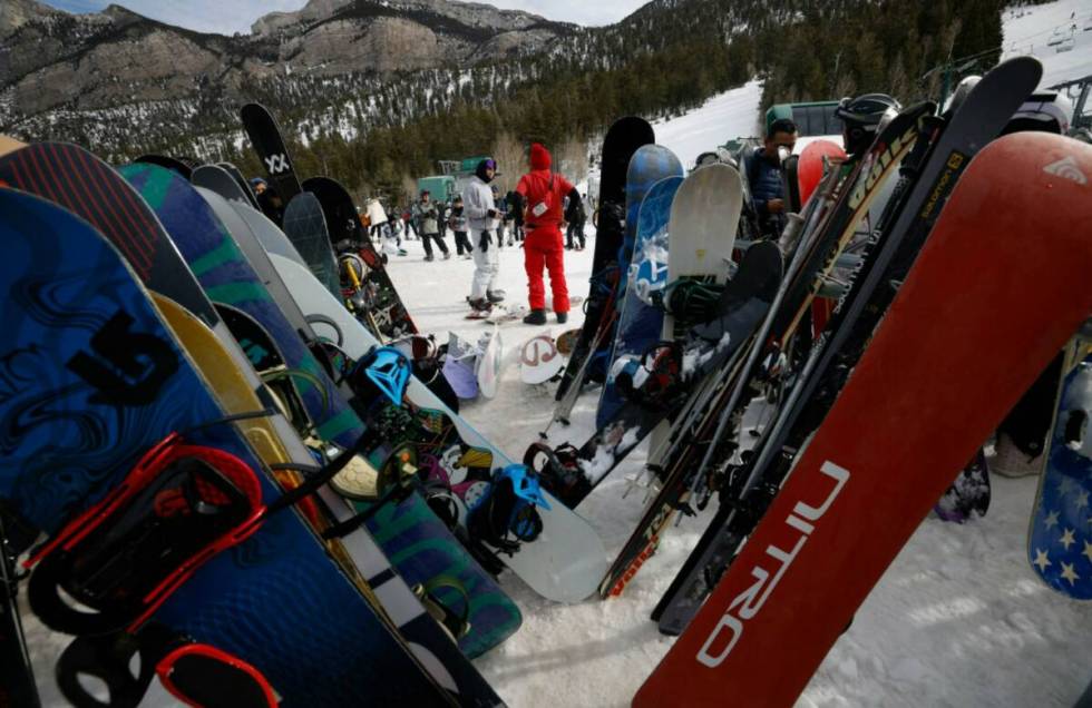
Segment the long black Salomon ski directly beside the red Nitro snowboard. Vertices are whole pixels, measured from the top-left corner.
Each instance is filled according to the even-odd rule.
[[[679,635],[720,580],[788,475],[797,450],[818,426],[895,297],[948,195],[971,158],[1035,89],[1042,65],[1011,59],[987,73],[934,136],[923,161],[888,205],[870,249],[803,365],[798,384],[763,434],[748,464],[721,490],[705,534],[653,611],[660,630]],[[955,471],[953,471],[955,472]]]

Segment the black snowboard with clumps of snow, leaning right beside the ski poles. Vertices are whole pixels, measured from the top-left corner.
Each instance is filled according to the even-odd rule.
[[[781,269],[777,244],[763,242],[750,248],[739,273],[721,293],[716,316],[693,327],[685,346],[662,345],[646,357],[652,360],[651,372],[646,362],[642,371],[617,375],[628,400],[607,425],[578,450],[563,445],[552,451],[536,443],[528,449],[525,464],[539,471],[543,484],[555,496],[576,508],[661,421],[673,419],[692,392],[701,391],[700,382],[710,372],[744,351],[743,345],[770,308]],[[642,375],[647,376],[643,382],[638,378]]]

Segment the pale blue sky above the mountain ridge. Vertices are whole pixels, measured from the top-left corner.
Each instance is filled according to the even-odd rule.
[[[47,4],[69,12],[96,12],[110,4],[109,0],[43,0]],[[480,1],[480,0],[479,0]],[[488,4],[508,10],[526,10],[550,20],[578,24],[610,24],[630,14],[649,0],[486,0]],[[248,32],[259,17],[277,10],[298,10],[305,0],[115,0],[145,17],[201,32]]]

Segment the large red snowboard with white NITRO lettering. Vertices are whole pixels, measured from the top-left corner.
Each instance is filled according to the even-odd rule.
[[[793,704],[1092,311],[1090,179],[1092,147],[1045,134],[1001,138],[971,163],[822,426],[634,706]]]

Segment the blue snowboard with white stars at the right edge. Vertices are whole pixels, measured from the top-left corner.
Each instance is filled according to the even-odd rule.
[[[1052,590],[1092,600],[1092,341],[1076,336],[1070,342],[1062,372],[1027,560]]]

